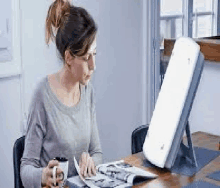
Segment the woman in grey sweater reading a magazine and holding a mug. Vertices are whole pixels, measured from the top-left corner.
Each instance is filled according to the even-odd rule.
[[[29,109],[25,149],[21,159],[24,187],[53,187],[55,157],[69,160],[68,177],[92,176],[102,162],[94,94],[89,82],[95,69],[97,26],[80,7],[56,0],[46,19],[46,43],[55,39],[63,68],[37,86]],[[58,168],[57,173],[62,169]],[[56,180],[60,182],[59,179]]]

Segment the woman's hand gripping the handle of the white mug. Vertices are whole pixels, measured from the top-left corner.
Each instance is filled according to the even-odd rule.
[[[54,179],[53,179],[53,167],[59,166],[59,162],[57,160],[50,160],[48,165],[43,169],[42,176],[41,176],[41,186],[42,187],[55,187],[59,188],[58,183],[61,183],[62,181],[57,178],[62,173],[61,168],[57,168],[57,177],[56,177],[56,185],[54,185]]]

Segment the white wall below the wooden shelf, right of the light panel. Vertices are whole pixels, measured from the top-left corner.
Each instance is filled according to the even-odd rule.
[[[192,132],[220,136],[220,62],[205,61],[204,70],[190,113]]]

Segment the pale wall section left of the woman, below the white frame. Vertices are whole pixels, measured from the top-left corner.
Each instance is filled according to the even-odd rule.
[[[13,144],[21,136],[21,96],[18,76],[0,79],[0,187],[14,187]]]

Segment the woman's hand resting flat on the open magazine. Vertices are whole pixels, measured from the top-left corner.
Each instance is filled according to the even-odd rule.
[[[79,161],[80,174],[85,178],[96,175],[95,163],[86,152],[83,152]]]

